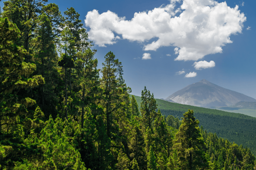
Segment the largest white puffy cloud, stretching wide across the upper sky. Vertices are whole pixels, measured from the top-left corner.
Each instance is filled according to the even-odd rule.
[[[166,6],[136,12],[131,20],[111,11],[99,14],[93,10],[87,13],[85,25],[90,28],[89,39],[99,46],[114,44],[121,37],[144,42],[144,50],[175,46],[175,60],[196,61],[221,53],[222,46],[232,43],[230,35],[242,32],[245,21],[238,5],[231,8],[214,0],[170,0]],[[152,38],[158,40],[150,43]]]

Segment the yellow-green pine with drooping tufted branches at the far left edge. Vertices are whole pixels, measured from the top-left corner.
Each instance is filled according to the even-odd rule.
[[[1,150],[5,150],[6,155],[0,159],[2,168],[11,168],[14,162],[22,162],[34,154],[26,152],[27,146],[21,146],[34,116],[33,111],[29,112],[27,108],[36,101],[17,94],[20,89],[31,90],[44,84],[44,78],[39,75],[28,78],[36,66],[24,62],[27,51],[18,44],[21,33],[16,25],[7,18],[0,18],[0,30],[3,33],[0,34],[0,141]]]

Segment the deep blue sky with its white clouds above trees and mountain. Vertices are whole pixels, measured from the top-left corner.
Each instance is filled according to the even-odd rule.
[[[146,86],[155,98],[166,98],[206,79],[256,99],[255,0],[48,3],[62,14],[70,7],[80,14],[99,68],[112,51],[134,95]]]

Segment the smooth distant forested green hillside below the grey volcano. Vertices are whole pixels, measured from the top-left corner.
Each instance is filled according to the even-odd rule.
[[[140,107],[141,97],[134,97]],[[171,103],[161,99],[156,99],[156,103],[157,108],[166,117],[173,115],[180,119],[188,109],[193,110],[196,119],[200,121],[199,127],[203,126],[208,132],[216,132],[218,136],[227,138],[231,142],[243,144],[251,148],[256,155],[256,118],[239,113]]]

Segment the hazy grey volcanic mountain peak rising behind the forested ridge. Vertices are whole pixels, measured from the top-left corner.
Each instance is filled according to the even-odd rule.
[[[188,85],[165,100],[198,107],[226,107],[240,101],[256,102],[254,98],[225,89],[205,79]]]

